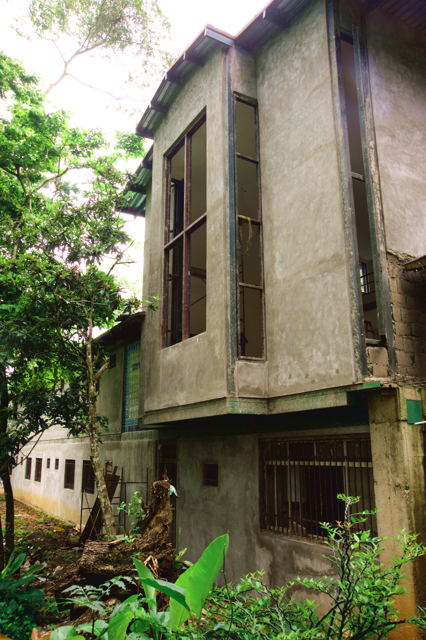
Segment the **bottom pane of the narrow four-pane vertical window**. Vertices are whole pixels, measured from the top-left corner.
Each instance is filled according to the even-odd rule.
[[[240,348],[242,356],[262,358],[262,291],[240,287]]]

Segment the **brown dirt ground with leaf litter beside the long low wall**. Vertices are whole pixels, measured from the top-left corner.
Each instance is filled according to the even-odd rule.
[[[3,534],[5,510],[3,486],[0,486]],[[24,553],[29,564],[43,565],[32,584],[43,589],[46,595],[55,595],[56,587],[63,582],[65,574],[67,577],[73,574],[77,577],[82,549],[77,546],[78,537],[72,540],[73,532],[78,533],[74,523],[47,515],[42,509],[15,500],[15,557]],[[65,611],[59,613],[55,621],[56,624],[65,624],[68,620],[69,611]]]

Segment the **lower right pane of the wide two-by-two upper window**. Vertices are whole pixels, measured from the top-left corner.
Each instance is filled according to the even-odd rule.
[[[190,236],[191,292],[189,298],[189,337],[206,330],[207,303],[207,224]]]

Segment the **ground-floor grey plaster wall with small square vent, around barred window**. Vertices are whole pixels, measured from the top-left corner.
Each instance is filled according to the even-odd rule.
[[[345,431],[351,433],[351,428]],[[306,431],[306,435],[313,434],[319,431]],[[265,436],[283,435],[300,432]],[[182,439],[177,442],[177,455],[177,526],[189,560],[197,561],[214,538],[229,531],[228,580],[238,581],[243,574],[264,569],[267,584],[282,586],[297,576],[320,577],[331,572],[328,561],[321,557],[326,552],[324,545],[260,532],[258,435]],[[219,465],[219,486],[203,484],[203,463]],[[296,600],[303,595],[306,593],[299,589],[294,592]]]

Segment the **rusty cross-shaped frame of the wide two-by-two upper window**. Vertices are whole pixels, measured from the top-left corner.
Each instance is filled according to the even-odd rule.
[[[207,211],[199,218],[190,223],[191,215],[191,138],[200,127],[207,122],[207,115],[204,113],[194,126],[177,142],[170,154],[166,157],[166,212],[164,224],[164,266],[163,266],[163,296],[164,304],[162,307],[162,348],[178,344],[187,340],[189,335],[189,305],[191,296],[191,283],[189,267],[191,265],[191,249],[190,236],[201,225],[207,224]],[[171,159],[177,152],[184,147],[185,154],[185,172],[184,172],[184,228],[173,239],[170,239],[170,216],[171,216]],[[183,242],[183,269],[182,269],[182,339],[171,342],[169,333],[172,329],[168,326],[169,303],[170,303],[170,278],[169,278],[169,260],[170,253],[173,248]]]

